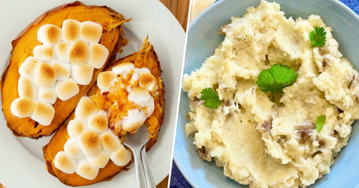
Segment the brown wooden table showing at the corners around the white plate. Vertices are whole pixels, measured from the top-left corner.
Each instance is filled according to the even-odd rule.
[[[1,1],[1,0],[0,0]],[[180,22],[183,30],[186,32],[187,28],[187,19],[188,19],[188,8],[190,6],[190,0],[159,0],[161,3],[166,6],[169,11],[176,17],[178,22]],[[157,186],[157,188],[167,188],[168,187],[168,175],[162,180]],[[0,188],[5,188],[4,185],[0,183]]]

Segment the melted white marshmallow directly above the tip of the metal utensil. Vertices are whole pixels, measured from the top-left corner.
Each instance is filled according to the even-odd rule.
[[[134,133],[145,122],[147,116],[144,111],[132,109],[127,112],[128,116],[123,117],[120,125],[123,130]]]

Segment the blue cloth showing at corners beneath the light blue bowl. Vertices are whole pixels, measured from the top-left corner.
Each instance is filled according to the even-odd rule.
[[[346,6],[354,10],[356,14],[359,14],[359,0],[340,0]],[[190,188],[191,185],[183,177],[180,170],[178,170],[176,164],[172,164],[172,173],[171,173],[171,182],[169,184],[170,188]]]

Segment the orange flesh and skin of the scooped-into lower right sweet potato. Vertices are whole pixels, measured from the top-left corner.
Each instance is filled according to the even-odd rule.
[[[160,127],[163,123],[164,118],[164,107],[165,107],[165,88],[161,78],[161,68],[160,62],[158,61],[157,54],[154,51],[152,45],[150,45],[146,38],[143,46],[141,47],[139,52],[133,53],[127,57],[118,59],[111,67],[107,68],[106,71],[111,71],[113,67],[123,62],[132,62],[135,64],[136,68],[147,67],[150,69],[151,73],[161,82],[158,82],[158,96],[154,98],[155,101],[155,109],[152,116],[155,117],[156,120],[152,120],[149,122],[148,120],[145,121],[145,124],[149,130],[150,141],[146,145],[146,151],[148,151],[151,146],[153,146],[157,142],[158,132]],[[99,94],[99,88],[94,85],[92,89],[87,93],[87,96],[92,96],[95,94]],[[78,174],[66,174],[61,170],[57,169],[53,164],[53,159],[55,155],[59,151],[64,151],[64,145],[67,139],[70,138],[69,134],[67,133],[67,124],[70,120],[74,119],[74,112],[69,116],[69,118],[64,122],[64,124],[60,127],[59,130],[53,135],[50,140],[50,143],[45,145],[43,150],[43,155],[46,162],[47,171],[52,174],[53,176],[57,177],[62,183],[69,185],[69,186],[81,186],[81,185],[90,185],[98,182],[109,181],[116,174],[120,173],[123,170],[127,170],[126,168],[133,162],[132,160],[124,167],[118,167],[112,163],[111,160],[107,163],[106,167],[100,168],[97,177],[93,180],[88,180],[85,178],[80,177]],[[154,124],[156,122],[156,124]],[[120,136],[121,137],[121,136]]]

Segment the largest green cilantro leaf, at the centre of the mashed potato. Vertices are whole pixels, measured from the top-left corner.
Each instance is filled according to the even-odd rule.
[[[283,93],[282,89],[292,84],[297,76],[294,69],[283,64],[275,64],[258,74],[256,84],[262,92],[272,92],[274,102],[275,93]]]

